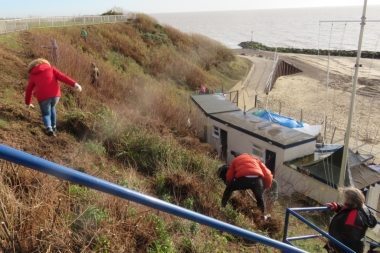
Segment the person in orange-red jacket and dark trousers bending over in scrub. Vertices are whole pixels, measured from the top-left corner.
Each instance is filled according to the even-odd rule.
[[[265,212],[264,190],[272,185],[272,172],[258,158],[249,154],[231,151],[235,156],[228,166],[226,189],[222,197],[222,207],[227,205],[233,191],[251,189],[255,195],[257,206]]]

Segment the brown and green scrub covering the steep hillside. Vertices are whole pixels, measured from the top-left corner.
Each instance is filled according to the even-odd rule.
[[[186,35],[139,14],[127,23],[41,28],[0,36],[0,136],[8,145],[123,187],[281,240],[289,202],[263,222],[249,196],[220,209],[223,163],[201,143],[189,94],[204,84],[228,90],[250,63],[201,35]],[[51,58],[82,85],[62,84],[58,135],[45,135],[37,101],[24,108],[28,63]],[[91,85],[90,65],[100,70]],[[188,124],[190,122],[192,124]],[[195,222],[0,161],[4,252],[269,252],[268,247]],[[279,213],[281,213],[281,211]],[[297,224],[297,223],[296,223]],[[297,231],[300,230],[297,224]]]

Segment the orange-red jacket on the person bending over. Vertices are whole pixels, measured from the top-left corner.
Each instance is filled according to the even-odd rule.
[[[244,176],[259,176],[263,180],[265,189],[272,185],[272,172],[258,158],[242,154],[232,160],[227,171],[227,182]]]

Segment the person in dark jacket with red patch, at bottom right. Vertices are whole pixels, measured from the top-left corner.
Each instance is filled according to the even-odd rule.
[[[359,189],[344,188],[343,194],[343,204],[325,204],[336,212],[329,225],[329,235],[356,253],[363,253],[365,233],[368,228],[376,226],[376,217],[364,205],[365,198]],[[327,252],[346,252],[331,241],[325,245],[325,249]]]

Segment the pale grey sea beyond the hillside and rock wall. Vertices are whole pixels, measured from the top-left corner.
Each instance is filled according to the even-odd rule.
[[[161,25],[201,34],[232,49],[271,47],[357,50],[363,6],[149,14]],[[368,5],[362,50],[380,50],[380,5]]]

